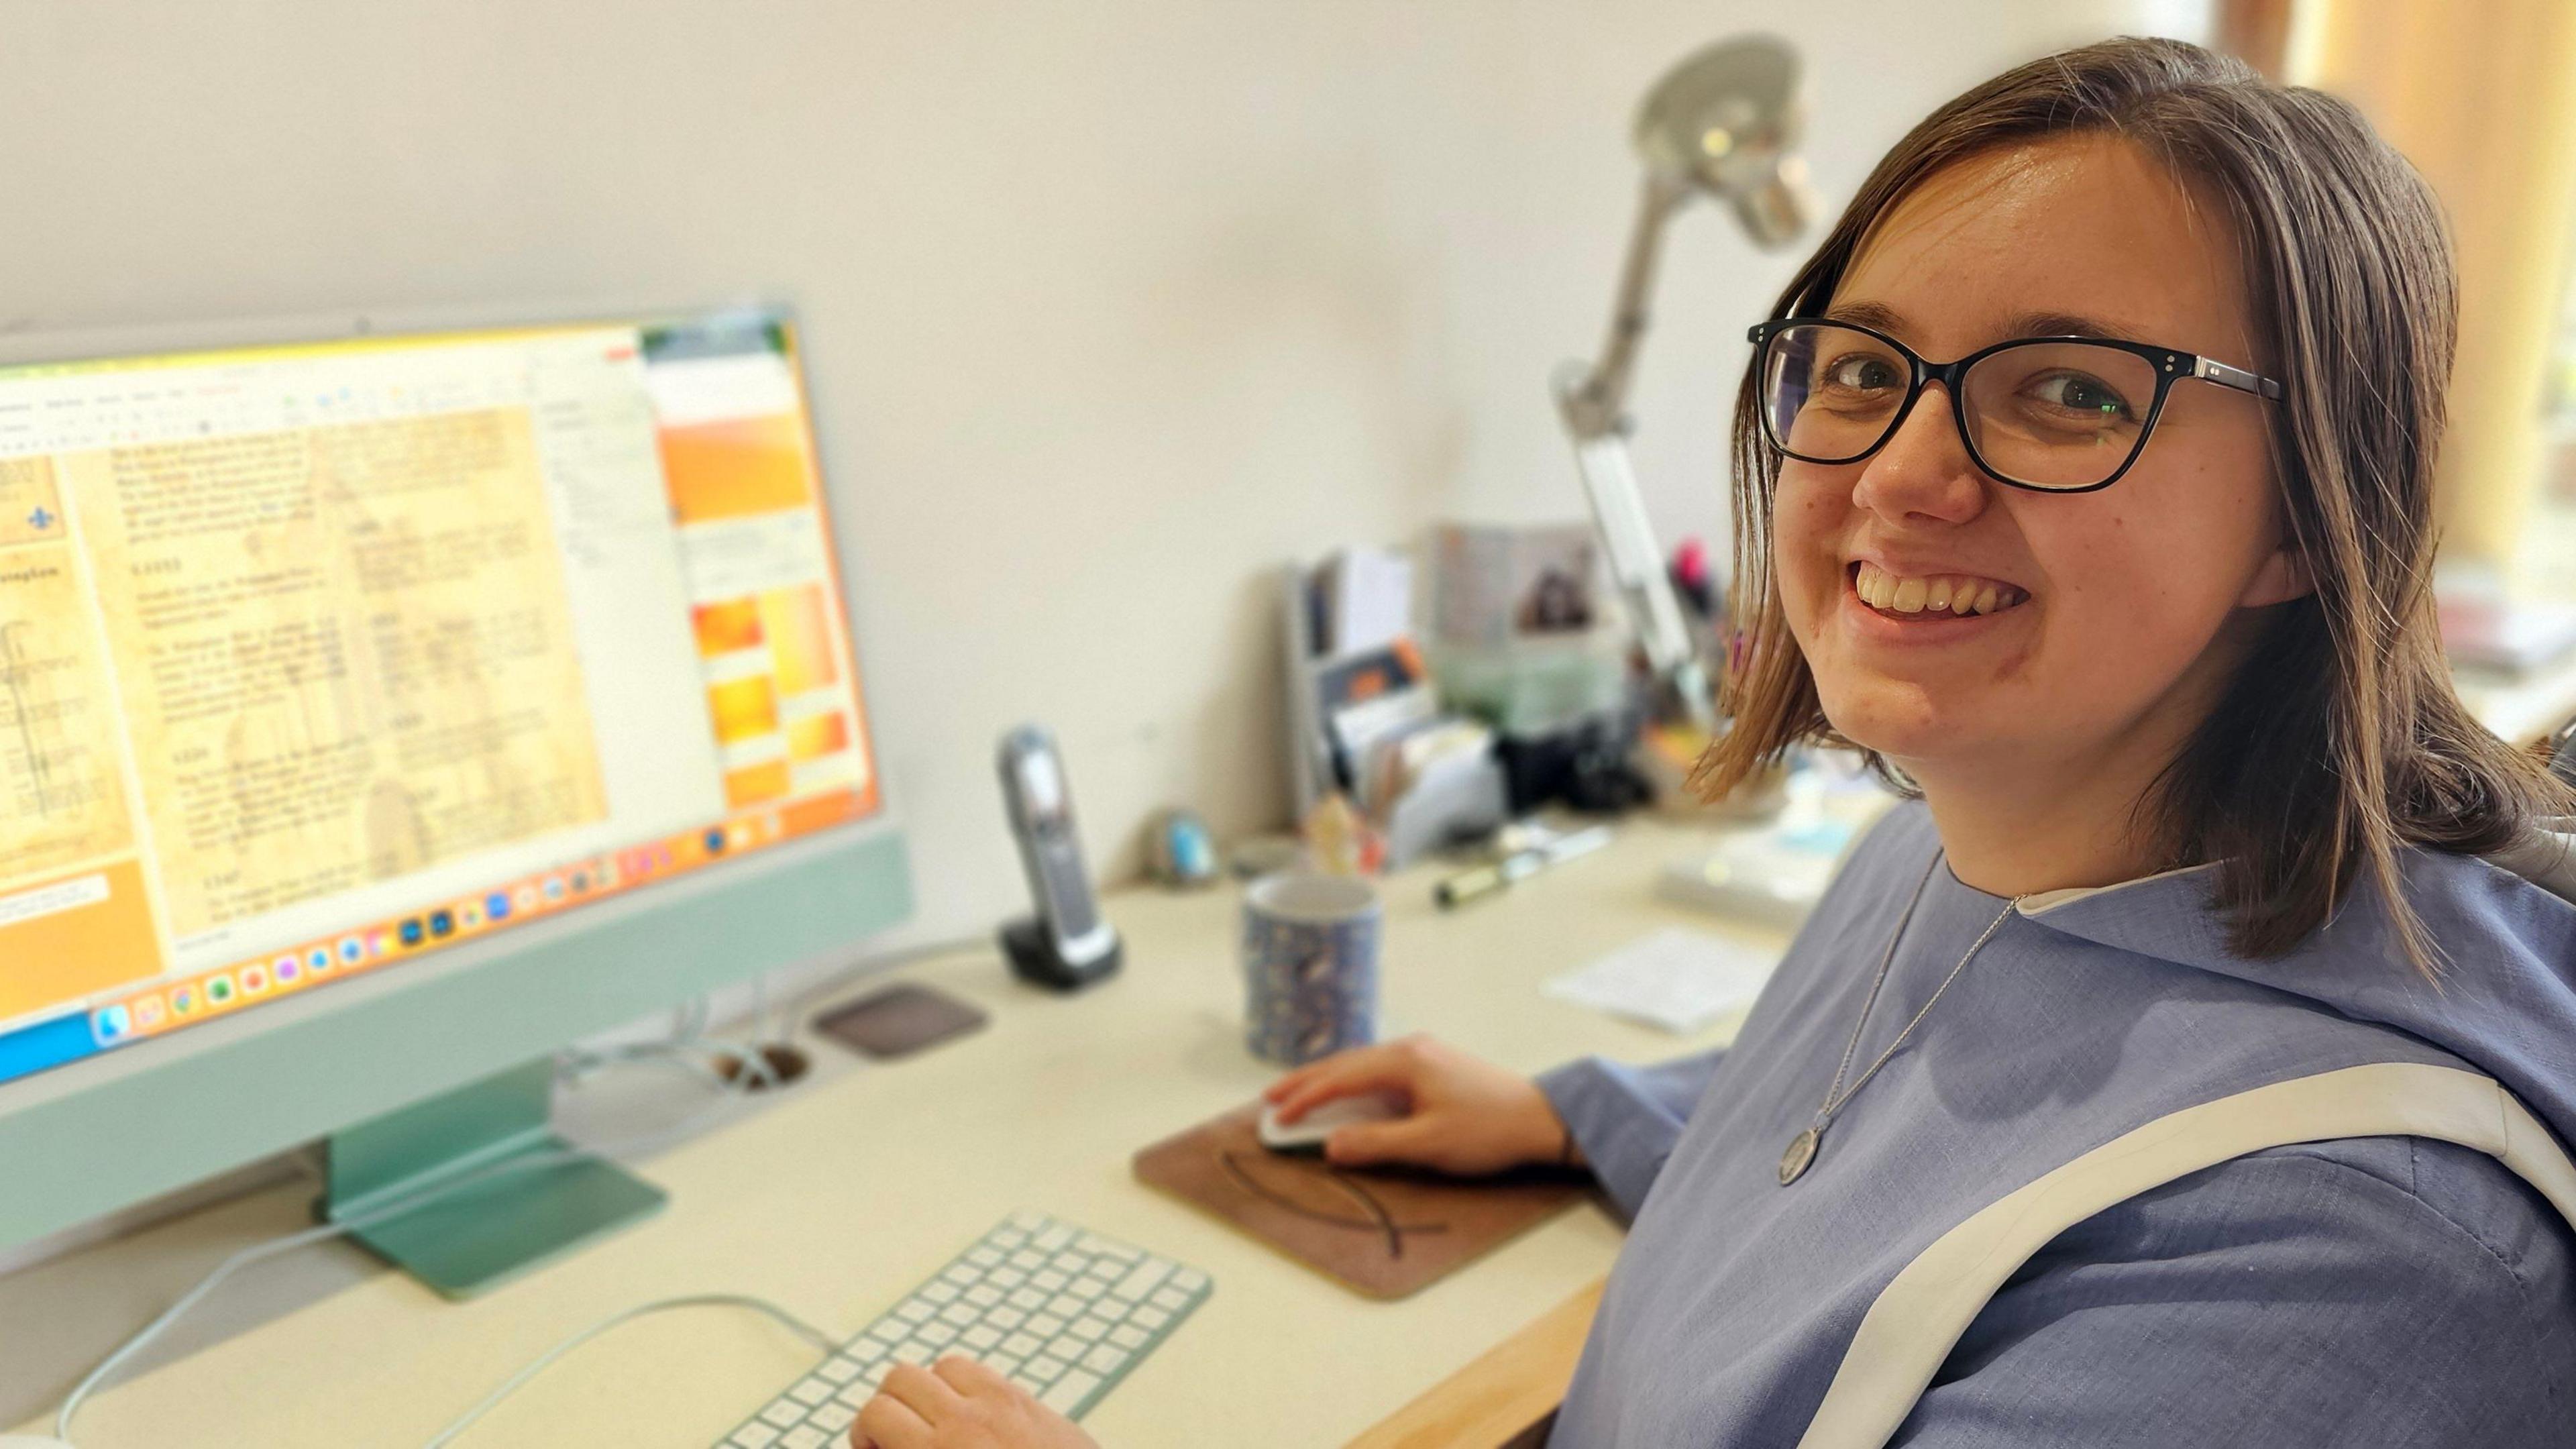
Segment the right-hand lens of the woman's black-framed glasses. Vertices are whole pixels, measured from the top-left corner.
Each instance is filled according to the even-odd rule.
[[[2092,487],[2146,438],[2156,364],[2097,343],[2022,343],[1968,369],[1963,392],[1986,467],[2030,487]]]

